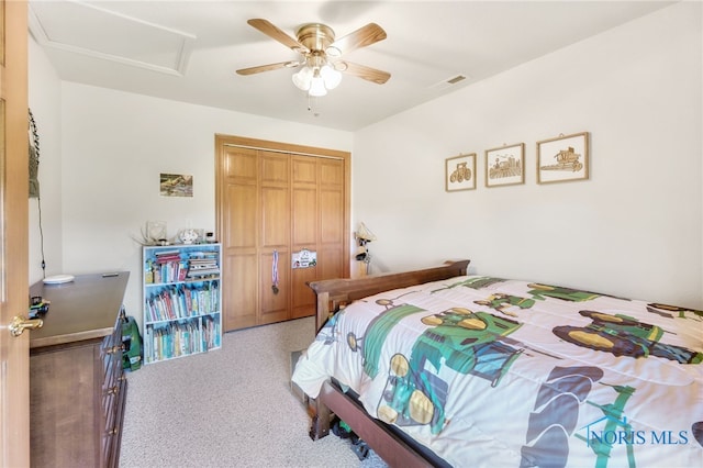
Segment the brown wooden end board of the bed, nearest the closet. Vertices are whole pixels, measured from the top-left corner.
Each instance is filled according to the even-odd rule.
[[[315,315],[315,332],[325,322],[352,301],[378,294],[391,289],[406,288],[423,282],[439,281],[455,276],[466,275],[470,260],[447,260],[444,265],[422,270],[398,274],[369,275],[361,278],[325,279],[308,283],[317,296],[317,312]]]

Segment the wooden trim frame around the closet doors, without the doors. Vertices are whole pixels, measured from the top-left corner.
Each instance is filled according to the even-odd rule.
[[[352,256],[352,154],[339,149],[330,149],[315,146],[304,146],[290,143],[272,142],[267,140],[249,138],[235,135],[215,134],[215,236],[222,243],[223,256],[226,248],[223,237],[225,226],[225,213],[223,203],[225,199],[225,187],[222,183],[222,175],[225,171],[225,148],[227,146],[238,146],[252,149],[268,152],[279,152],[292,155],[302,155],[321,158],[335,158],[344,161],[344,252],[343,252],[343,276],[348,278],[350,271]],[[225,281],[227,279],[225,278]],[[224,294],[223,294],[224,298]],[[223,303],[223,314],[224,307]]]

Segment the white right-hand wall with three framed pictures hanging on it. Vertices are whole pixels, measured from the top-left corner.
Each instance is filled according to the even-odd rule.
[[[376,271],[461,257],[703,309],[701,20],[682,2],[357,132],[353,225],[378,236]],[[537,185],[535,143],[584,131],[590,180]],[[525,183],[486,188],[483,152],[521,142]],[[447,193],[460,153],[478,187]]]

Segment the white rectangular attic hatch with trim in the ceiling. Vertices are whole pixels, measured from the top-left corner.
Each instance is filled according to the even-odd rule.
[[[182,76],[196,36],[78,1],[32,2],[32,36],[42,46]]]

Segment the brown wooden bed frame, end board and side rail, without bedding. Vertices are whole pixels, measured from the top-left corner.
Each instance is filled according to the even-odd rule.
[[[319,332],[335,312],[355,300],[382,291],[466,275],[469,261],[445,261],[443,266],[415,271],[310,282],[309,286],[317,297],[315,331]],[[432,454],[423,454],[417,446],[403,439],[398,431],[368,415],[358,401],[331,381],[325,382],[320,395],[310,401],[309,409],[312,413],[310,436],[314,441],[330,433],[331,416],[336,414],[390,466],[411,468],[437,465],[436,457],[433,459]]]

